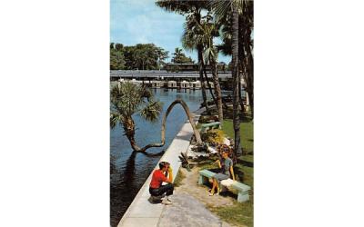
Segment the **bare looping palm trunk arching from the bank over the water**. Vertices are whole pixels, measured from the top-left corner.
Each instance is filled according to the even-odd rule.
[[[176,104],[181,104],[183,109],[185,110],[185,113],[187,114],[187,117],[188,117],[188,120],[189,120],[189,123],[191,123],[191,126],[193,128],[193,131],[194,131],[194,134],[195,134],[195,137],[196,137],[196,141],[198,144],[202,144],[202,140],[201,140],[201,136],[196,128],[196,125],[193,121],[193,118],[192,118],[192,114],[189,112],[189,108],[187,106],[187,104],[185,103],[185,101],[183,101],[182,99],[177,99],[175,100],[172,104],[170,104],[167,108],[167,112],[166,114],[163,116],[163,120],[162,120],[162,129],[161,129],[161,132],[160,132],[160,137],[161,137],[161,142],[160,143],[150,143],[150,144],[147,144],[147,146],[143,147],[143,148],[139,148],[136,143],[135,143],[135,140],[134,140],[134,126],[133,126],[133,133],[132,133],[132,136],[129,138],[129,136],[127,135],[126,133],[126,136],[127,138],[129,139],[130,141],[130,144],[133,148],[133,150],[135,150],[136,152],[139,152],[139,153],[146,153],[147,149],[151,148],[151,147],[162,147],[165,145],[166,143],[166,122],[167,122],[167,117],[168,117],[168,114],[172,111],[173,107],[176,105]],[[133,122],[134,123],[134,122]],[[130,132],[131,133],[131,132]],[[132,140],[131,140],[132,139]],[[162,152],[163,153],[163,152]],[[157,153],[155,155],[158,155],[160,153]]]

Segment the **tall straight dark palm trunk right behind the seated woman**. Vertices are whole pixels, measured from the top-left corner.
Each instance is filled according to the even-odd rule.
[[[232,7],[232,74],[233,74],[233,127],[234,127],[234,153],[238,155],[241,151],[240,144],[240,114],[239,114],[239,96],[238,96],[238,10]]]

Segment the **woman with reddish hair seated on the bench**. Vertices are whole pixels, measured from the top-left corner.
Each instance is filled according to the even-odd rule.
[[[217,159],[218,167],[220,168],[220,173],[216,173],[212,177],[212,189],[210,192],[210,196],[214,195],[215,189],[217,189],[217,194],[220,192],[220,182],[223,180],[227,180],[229,178],[235,181],[235,174],[233,170],[233,161],[228,157],[228,151],[224,150],[222,152],[222,160]]]

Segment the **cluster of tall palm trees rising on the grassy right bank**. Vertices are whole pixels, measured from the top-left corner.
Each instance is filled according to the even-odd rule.
[[[223,123],[223,103],[217,74],[217,53],[231,55],[233,74],[233,124],[234,153],[241,151],[240,115],[244,112],[241,99],[241,79],[248,93],[252,116],[254,117],[254,72],[253,72],[253,1],[251,0],[206,0],[176,1],[157,0],[156,5],[168,12],[186,16],[182,45],[187,50],[196,50],[199,64],[204,106],[209,114],[205,81],[206,64],[211,65],[215,93],[210,93],[217,106],[218,118]],[[223,44],[214,44],[214,38],[220,36]],[[207,83],[208,84],[208,83]],[[209,85],[209,84],[208,84]]]

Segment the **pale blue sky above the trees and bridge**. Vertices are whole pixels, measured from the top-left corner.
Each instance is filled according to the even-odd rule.
[[[185,16],[165,11],[155,0],[110,0],[110,43],[153,43],[169,51],[167,62],[176,47],[182,48],[184,22]],[[184,53],[197,62],[197,52]],[[217,61],[228,64],[231,57],[219,54]]]

